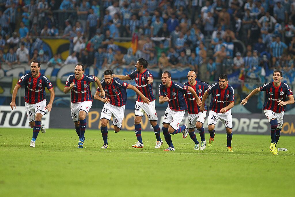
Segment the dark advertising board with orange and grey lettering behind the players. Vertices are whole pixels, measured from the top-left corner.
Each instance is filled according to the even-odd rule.
[[[164,118],[163,110],[158,110],[158,124],[161,124]],[[87,129],[100,130],[100,113],[101,109],[91,109],[89,115],[86,117]],[[186,113],[187,114],[187,113]],[[207,114],[208,117],[208,114]],[[265,134],[270,133],[270,124],[264,114],[232,114],[233,132],[242,134]],[[63,120],[62,123],[60,120]],[[183,118],[181,125],[187,123],[187,116]],[[142,118],[141,127],[143,131],[153,131],[147,116]],[[71,111],[69,108],[56,108],[51,111],[50,128],[74,128],[74,123],[71,118]],[[207,118],[204,123],[205,131],[207,131]],[[108,124],[108,129],[112,130],[112,120]],[[122,123],[122,130],[134,131],[134,111],[125,110],[124,120]],[[161,129],[162,131],[162,129]],[[217,133],[225,133],[225,128],[219,120],[215,126]],[[283,135],[295,135],[294,116],[285,115],[284,123],[281,133]]]

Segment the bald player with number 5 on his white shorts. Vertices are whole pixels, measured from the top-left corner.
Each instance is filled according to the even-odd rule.
[[[208,89],[209,85],[205,82],[196,81],[196,73],[195,71],[189,71],[187,74],[188,82],[183,85],[190,86],[197,93],[199,99],[202,99],[204,92]],[[195,143],[194,150],[204,150],[206,148],[206,140],[205,140],[205,131],[203,124],[206,118],[207,106],[205,105],[205,111],[201,111],[199,106],[197,105],[196,98],[193,97],[191,92],[187,90],[185,92],[186,102],[188,106],[188,129],[189,136]],[[199,131],[201,137],[201,146],[196,138],[195,128]]]

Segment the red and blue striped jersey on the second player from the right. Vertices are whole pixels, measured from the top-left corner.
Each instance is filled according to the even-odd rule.
[[[232,86],[227,84],[225,89],[221,89],[219,84],[212,84],[207,92],[212,94],[209,110],[220,113],[220,110],[235,101],[235,92]],[[227,110],[228,111],[228,110]]]

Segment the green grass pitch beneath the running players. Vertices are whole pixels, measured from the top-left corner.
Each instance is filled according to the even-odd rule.
[[[197,139],[200,139],[198,133]],[[132,148],[134,131],[109,131],[109,149],[99,130],[86,130],[78,149],[74,129],[47,129],[30,148],[31,129],[0,129],[0,196],[293,196],[295,136],[281,136],[272,155],[270,136],[217,133],[204,151],[181,133],[154,149],[153,132],[142,132],[145,147]],[[206,140],[209,134],[206,133]]]

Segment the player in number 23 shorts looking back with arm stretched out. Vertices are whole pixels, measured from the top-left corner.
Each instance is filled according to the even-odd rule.
[[[134,148],[142,148],[143,142],[141,138],[141,119],[144,113],[147,114],[148,119],[150,120],[150,124],[154,128],[154,133],[156,135],[156,146],[155,149],[160,148],[163,144],[163,141],[160,137],[160,127],[157,123],[158,116],[155,108],[155,97],[153,94],[153,74],[149,71],[148,68],[148,61],[144,58],[139,58],[135,65],[136,70],[128,75],[113,75],[114,77],[118,77],[121,80],[129,80],[135,79],[136,87],[139,89],[142,94],[150,100],[150,105],[144,103],[140,96],[136,95],[136,103],[135,103],[135,118],[134,118],[134,128],[135,134],[137,138],[137,143],[132,145]]]

